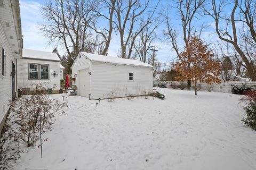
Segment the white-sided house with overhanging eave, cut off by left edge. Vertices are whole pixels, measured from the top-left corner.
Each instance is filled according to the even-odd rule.
[[[0,1],[0,134],[17,96],[17,58],[22,56],[19,1]]]

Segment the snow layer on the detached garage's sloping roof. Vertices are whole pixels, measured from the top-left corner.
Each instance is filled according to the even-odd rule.
[[[95,62],[106,62],[106,63],[115,63],[115,64],[125,64],[125,65],[139,65],[139,66],[146,66],[146,67],[153,67],[152,65],[140,62],[138,60],[130,60],[126,58],[118,58],[112,56],[105,56],[99,54],[91,54],[81,52],[84,56],[88,57],[91,61]]]

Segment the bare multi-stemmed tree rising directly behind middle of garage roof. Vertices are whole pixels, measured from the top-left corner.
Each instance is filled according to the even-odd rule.
[[[113,23],[120,36],[121,58],[131,58],[135,39],[151,23],[157,5],[153,11],[149,11],[149,0],[143,3],[139,0],[116,0]],[[140,24],[145,13],[149,13],[148,17]]]

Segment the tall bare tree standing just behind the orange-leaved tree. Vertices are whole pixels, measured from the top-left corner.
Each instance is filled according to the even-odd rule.
[[[174,8],[177,9],[179,13],[179,19],[182,23],[182,39],[185,44],[185,48],[188,46],[188,41],[191,37],[195,36],[196,34],[200,37],[202,31],[205,27],[202,25],[201,28],[195,28],[193,21],[196,19],[196,14],[200,10],[200,7],[203,5],[205,0],[178,0],[174,1]],[[178,45],[178,35],[179,31],[175,29],[174,25],[170,20],[169,9],[170,6],[164,9],[162,15],[164,16],[164,20],[166,23],[166,30],[164,30],[164,35],[172,45],[172,48],[175,50],[177,56],[180,59],[180,52],[182,50],[181,47]],[[190,56],[188,56],[189,59]],[[188,69],[190,68],[190,63],[188,63]],[[188,80],[188,89],[190,90],[191,81]]]

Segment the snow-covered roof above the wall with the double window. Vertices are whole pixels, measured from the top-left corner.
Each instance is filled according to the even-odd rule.
[[[56,53],[43,52],[34,49],[23,49],[22,58],[30,58],[34,60],[60,61],[60,58]]]

